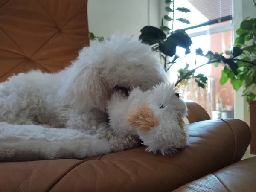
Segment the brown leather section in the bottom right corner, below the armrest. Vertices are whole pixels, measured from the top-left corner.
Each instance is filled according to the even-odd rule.
[[[188,183],[174,192],[255,192],[256,157],[239,161]]]

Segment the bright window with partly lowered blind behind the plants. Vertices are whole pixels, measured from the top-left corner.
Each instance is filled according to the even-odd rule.
[[[191,13],[175,11],[174,17],[188,19],[191,23],[175,20],[174,23],[169,22],[169,28],[185,29],[193,44],[190,47],[191,53],[186,57],[183,48],[177,48],[180,58],[169,71],[172,82],[177,80],[177,70],[184,68],[186,63],[189,64],[189,69],[193,69],[195,60],[196,66],[208,61],[207,58],[195,55],[195,49],[200,47],[204,53],[208,50],[220,53],[233,46],[232,0],[175,0],[174,8],[177,7],[189,8]],[[172,13],[169,16],[172,17]],[[233,87],[230,82],[223,86],[219,84],[221,70],[222,66],[214,67],[211,64],[196,70],[196,73],[203,73],[208,77],[205,89],[198,87],[193,79],[182,87],[183,97],[199,103],[212,119],[233,118]]]

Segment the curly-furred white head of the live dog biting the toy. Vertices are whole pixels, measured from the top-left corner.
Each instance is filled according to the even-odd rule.
[[[166,81],[163,67],[150,46],[116,35],[81,49],[62,73],[58,96],[79,111],[105,111],[115,90],[127,94],[132,87],[149,90]]]

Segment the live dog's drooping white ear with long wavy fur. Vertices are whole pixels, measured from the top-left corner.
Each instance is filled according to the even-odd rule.
[[[101,71],[91,65],[73,64],[64,72],[58,96],[63,102],[84,111],[98,108],[105,111],[107,90]]]

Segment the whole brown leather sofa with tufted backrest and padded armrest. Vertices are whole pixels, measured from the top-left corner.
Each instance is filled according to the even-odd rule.
[[[58,71],[88,44],[87,0],[0,0],[0,81]],[[255,191],[256,158],[240,161],[248,125],[210,120],[201,106],[187,105],[188,146],[176,154],[142,146],[84,160],[0,163],[0,192]]]

